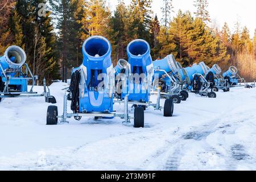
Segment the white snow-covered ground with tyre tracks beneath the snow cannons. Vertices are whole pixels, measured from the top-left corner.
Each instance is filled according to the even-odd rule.
[[[59,113],[65,87],[50,86]],[[174,117],[147,109],[143,129],[118,118],[47,126],[48,105],[43,97],[0,103],[0,170],[256,170],[256,89],[189,93]]]

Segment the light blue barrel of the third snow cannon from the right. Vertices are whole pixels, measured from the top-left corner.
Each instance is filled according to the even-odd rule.
[[[195,73],[206,75],[208,70],[209,68],[207,67],[207,65],[205,65],[204,62],[201,62],[199,64],[193,64],[192,67],[183,68],[182,75],[187,81],[187,83],[190,85],[193,81],[193,75]]]

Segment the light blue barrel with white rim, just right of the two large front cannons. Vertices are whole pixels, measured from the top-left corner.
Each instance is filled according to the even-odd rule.
[[[154,75],[155,77],[161,78],[162,75],[166,74],[166,73],[172,73],[172,74],[176,74],[179,71],[179,66],[177,65],[174,56],[172,55],[168,55],[166,56],[164,59],[161,60],[155,60],[153,62],[154,65]],[[166,71],[157,71],[157,70],[164,70]]]

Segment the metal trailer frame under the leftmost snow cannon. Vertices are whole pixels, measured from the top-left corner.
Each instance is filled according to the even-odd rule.
[[[38,92],[33,92],[33,88],[35,86],[36,80],[38,80],[38,76],[34,76],[32,74],[32,72],[31,72],[30,68],[28,67],[27,63],[23,64],[23,66],[26,67],[26,75],[28,75],[28,73],[30,73],[31,77],[11,77],[9,75],[6,75],[6,72],[3,70],[3,68],[0,64],[0,68],[2,70],[3,76],[6,79],[5,88],[3,89],[3,92],[0,92],[0,98],[44,97],[46,102],[55,104],[56,99],[55,99],[55,97],[51,96],[50,90],[49,90],[48,86],[46,86],[46,79],[45,78],[43,79],[44,92],[41,93],[41,94],[38,94]],[[22,68],[20,68],[20,69],[22,69]],[[30,88],[30,91],[29,92],[10,92],[9,91],[9,82],[10,82],[10,80],[21,80],[21,79],[26,80],[26,81],[32,80],[32,86]]]

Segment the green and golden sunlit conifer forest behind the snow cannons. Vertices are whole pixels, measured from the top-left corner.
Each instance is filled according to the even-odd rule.
[[[234,32],[227,23],[209,26],[207,0],[194,1],[195,16],[174,12],[172,0],[160,1],[163,17],[154,15],[152,0],[131,0],[129,5],[119,0],[114,12],[105,0],[1,0],[0,55],[11,45],[20,46],[40,84],[43,77],[48,83],[67,82],[71,68],[82,62],[82,43],[89,36],[110,40],[114,64],[127,59],[127,44],[139,38],[150,43],[153,60],[172,54],[183,66],[200,61],[222,69],[234,65],[246,81],[256,78],[256,29],[251,39],[240,22]]]

